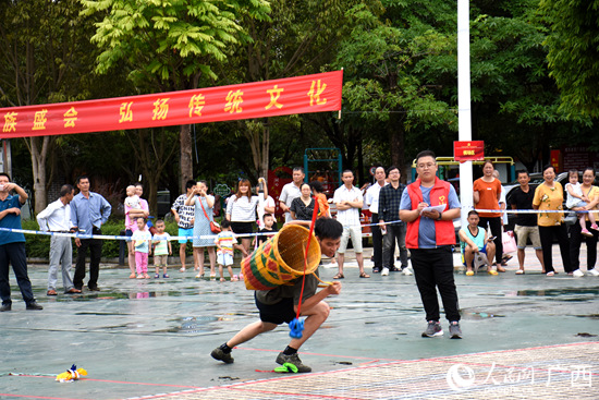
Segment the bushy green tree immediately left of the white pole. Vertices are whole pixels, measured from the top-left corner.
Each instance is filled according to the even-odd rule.
[[[436,26],[440,23],[427,21],[435,13],[445,15],[443,1],[420,4],[425,10],[416,7],[418,1],[382,3],[388,5],[382,13],[365,4],[347,11],[354,28],[341,44],[335,64],[345,66],[347,111],[360,117],[354,125],[382,123],[390,161],[403,167],[408,133],[457,126],[455,111],[441,98],[443,74],[453,68],[431,60],[449,56],[454,45]]]

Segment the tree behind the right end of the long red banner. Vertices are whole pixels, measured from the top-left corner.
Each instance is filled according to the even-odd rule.
[[[259,82],[317,73],[329,68],[334,49],[349,29],[345,10],[359,2],[271,0],[269,20],[246,17],[243,21],[252,40],[235,48],[236,57],[229,60],[224,81]],[[254,168],[259,175],[265,175],[269,168],[272,133],[292,128],[293,134],[297,134],[297,122],[296,117],[289,116],[246,120],[241,124],[240,131],[249,143]],[[289,137],[291,133],[282,134]]]

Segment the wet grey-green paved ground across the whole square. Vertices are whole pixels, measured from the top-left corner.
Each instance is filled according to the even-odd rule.
[[[514,275],[515,259],[498,277],[456,272],[462,340],[420,337],[414,277],[359,279],[350,263],[329,320],[302,349],[315,371],[304,375],[269,372],[289,340],[284,326],[234,350],[234,364],[210,359],[256,319],[242,282],[174,267],[170,279],[130,280],[127,269],[107,266],[101,292],[47,298],[47,267],[34,266],[45,310],[26,312],[13,284],[13,311],[0,314],[0,398],[599,398],[599,278],[560,267],[548,278],[531,252],[527,259],[525,276]],[[56,383],[73,363],[89,375]]]

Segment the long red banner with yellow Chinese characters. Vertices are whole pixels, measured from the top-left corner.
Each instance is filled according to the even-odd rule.
[[[0,108],[0,138],[341,110],[343,71],[154,95]]]

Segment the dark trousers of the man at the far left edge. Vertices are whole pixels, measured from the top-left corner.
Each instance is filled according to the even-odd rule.
[[[16,283],[19,284],[19,289],[21,289],[23,300],[27,304],[33,303],[35,299],[32,291],[32,282],[27,275],[27,257],[25,256],[24,242],[0,245],[0,298],[2,298],[2,304],[12,304],[11,283],[9,281],[10,265],[12,265],[12,270],[16,277]]]

